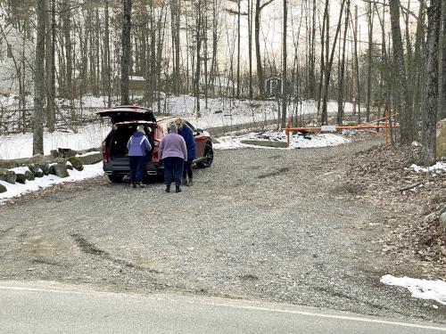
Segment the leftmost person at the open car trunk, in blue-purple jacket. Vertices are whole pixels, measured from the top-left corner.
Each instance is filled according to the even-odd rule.
[[[152,150],[152,145],[145,135],[144,126],[137,127],[136,132],[128,139],[127,148],[128,164],[130,165],[130,185],[132,188],[136,188],[137,184],[143,188],[145,156]]]

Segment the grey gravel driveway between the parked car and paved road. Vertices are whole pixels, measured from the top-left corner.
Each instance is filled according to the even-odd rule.
[[[0,207],[0,279],[446,322],[444,308],[379,282],[394,261],[373,242],[380,208],[354,200],[343,170],[373,143],[216,151],[178,194],[102,176],[24,196]]]

